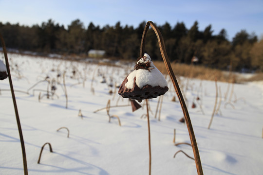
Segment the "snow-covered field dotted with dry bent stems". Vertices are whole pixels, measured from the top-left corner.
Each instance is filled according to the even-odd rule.
[[[134,112],[131,106],[110,108],[109,114],[118,116],[121,126],[116,117],[109,123],[105,109],[94,113],[106,107],[109,100],[111,106],[130,104],[117,94],[118,88],[110,85],[121,84],[134,65],[120,68],[18,54],[8,54],[8,57],[29,175],[148,174],[144,101],[140,103],[143,107]],[[4,60],[2,53],[0,59]],[[183,112],[177,98],[176,102],[172,101],[175,91],[168,82],[160,121],[159,113],[155,118],[160,97],[149,101],[151,174],[196,175],[194,160],[183,153],[173,157],[179,150],[191,157],[193,153],[189,145],[173,143],[174,129],[175,143],[190,143],[190,140],[187,126],[179,122]],[[221,90],[220,110],[207,129],[215,104],[215,82],[180,77],[204,174],[263,175],[263,83],[230,85],[226,99],[227,83],[217,84]],[[54,91],[52,86],[56,88]],[[0,175],[22,175],[22,152],[8,79],[0,81],[0,89]],[[200,100],[196,100],[197,97]],[[193,101],[195,108],[192,108]],[[80,110],[83,117],[78,116]],[[56,131],[60,127],[69,129],[69,138],[66,129]],[[49,152],[46,145],[38,164],[41,147],[46,142],[51,143],[54,152]]]

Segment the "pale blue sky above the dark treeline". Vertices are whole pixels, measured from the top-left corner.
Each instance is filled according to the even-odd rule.
[[[199,30],[212,25],[213,35],[225,28],[228,39],[241,30],[263,36],[263,0],[0,0],[0,21],[33,25],[53,19],[67,27],[80,19],[100,27],[137,27],[142,21],[173,27],[184,22],[189,29],[198,21]]]

